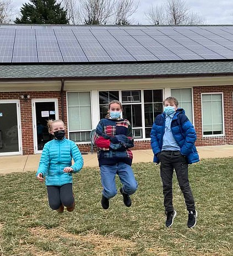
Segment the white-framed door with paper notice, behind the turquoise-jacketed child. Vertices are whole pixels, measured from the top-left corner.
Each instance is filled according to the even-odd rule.
[[[32,100],[35,153],[41,153],[45,143],[53,139],[48,132],[47,121],[58,119],[57,105],[57,99]]]

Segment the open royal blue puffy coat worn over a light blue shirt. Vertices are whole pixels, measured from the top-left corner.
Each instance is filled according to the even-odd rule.
[[[165,131],[165,113],[162,113],[155,118],[155,122],[151,129],[151,148],[154,153],[153,162],[159,163],[157,154],[162,150],[162,137]],[[197,149],[194,145],[197,135],[192,123],[185,115],[185,110],[177,109],[171,121],[171,131],[178,146],[181,148],[181,154],[186,156],[189,164],[199,161]]]

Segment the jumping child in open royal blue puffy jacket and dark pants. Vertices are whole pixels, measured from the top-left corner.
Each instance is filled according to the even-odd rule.
[[[168,97],[164,100],[164,113],[156,116],[150,136],[154,162],[161,163],[160,176],[167,215],[166,227],[171,227],[176,217],[172,204],[174,168],[187,206],[187,226],[194,227],[197,221],[197,211],[188,180],[188,164],[199,161],[194,145],[197,136],[192,123],[185,115],[185,110],[178,108],[176,98]]]

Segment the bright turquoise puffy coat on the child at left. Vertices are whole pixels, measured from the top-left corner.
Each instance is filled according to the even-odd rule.
[[[74,159],[73,165],[72,158]],[[43,177],[46,176],[45,184],[48,186],[73,183],[72,173],[64,172],[65,167],[72,167],[72,173],[77,173],[82,169],[83,157],[77,145],[67,138],[48,141],[43,148],[36,175],[42,173]]]

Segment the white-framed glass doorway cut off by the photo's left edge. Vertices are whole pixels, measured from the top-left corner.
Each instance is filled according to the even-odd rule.
[[[0,155],[21,154],[18,100],[0,100]]]

